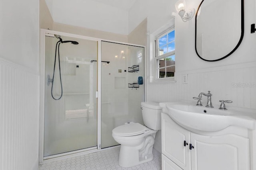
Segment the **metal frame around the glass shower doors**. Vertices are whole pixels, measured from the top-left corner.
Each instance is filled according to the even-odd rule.
[[[45,89],[45,37],[52,35],[61,35],[66,37],[72,37],[72,38],[79,38],[79,39],[86,39],[91,41],[97,42],[97,91],[96,91],[96,99],[97,99],[97,147],[91,147],[88,149],[81,149],[78,151],[71,151],[66,152],[64,154],[58,154],[54,156],[47,156],[47,158],[44,157],[44,89]],[[40,115],[39,115],[39,162],[45,162],[49,159],[60,159],[60,158],[70,158],[73,156],[79,156],[81,154],[90,153],[90,152],[97,152],[101,149],[101,61],[102,61],[102,55],[101,55],[101,44],[102,41],[107,41],[110,43],[119,43],[123,45],[133,45],[137,47],[144,47],[144,75],[147,75],[147,59],[146,59],[146,47],[143,45],[136,45],[136,44],[130,44],[130,43],[123,43],[118,41],[111,41],[106,39],[100,39],[100,38],[94,38],[94,37],[88,37],[84,35],[76,35],[71,33],[64,33],[60,31],[52,31],[49,29],[41,29],[40,34]],[[146,80],[145,80],[145,91],[146,91]],[[146,94],[145,94],[146,97]],[[114,148],[114,147],[110,147]],[[109,148],[107,148],[109,149]]]

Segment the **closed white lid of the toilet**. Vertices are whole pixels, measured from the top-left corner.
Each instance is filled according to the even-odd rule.
[[[113,129],[112,133],[118,136],[134,136],[140,135],[146,131],[146,127],[140,123],[129,123],[118,126]]]

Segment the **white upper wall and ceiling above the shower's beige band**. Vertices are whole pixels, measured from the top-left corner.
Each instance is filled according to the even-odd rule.
[[[128,35],[129,10],[138,0],[45,0],[56,23]]]

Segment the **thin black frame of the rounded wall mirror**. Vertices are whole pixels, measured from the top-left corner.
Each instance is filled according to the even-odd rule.
[[[204,0],[202,0],[202,2],[200,3],[200,5],[198,6],[197,10],[196,10],[196,18],[195,18],[195,21],[197,19],[197,13],[198,13],[198,10],[200,8],[200,6],[202,5],[202,3],[204,2]],[[236,51],[236,49],[238,48],[238,46],[241,44],[242,42],[242,39],[244,37],[244,0],[241,0],[241,36],[240,36],[240,40],[238,41],[238,44],[236,45],[236,47],[230,52],[228,53],[227,55],[225,55],[224,57],[220,58],[220,59],[216,59],[216,60],[206,60],[204,58],[202,58],[197,50],[196,50],[196,29],[195,29],[195,50],[196,50],[196,54],[198,55],[198,57],[204,61],[220,61],[222,59],[225,59],[226,57],[230,56],[232,53],[234,53],[234,51]]]

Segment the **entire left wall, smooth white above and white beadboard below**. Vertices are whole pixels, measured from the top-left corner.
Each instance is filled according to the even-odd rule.
[[[38,169],[39,2],[0,1],[0,169]],[[14,64],[15,63],[15,64]]]

